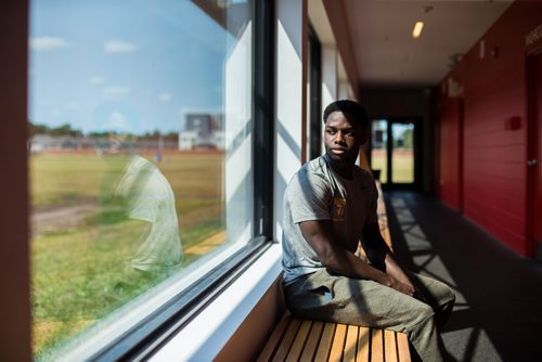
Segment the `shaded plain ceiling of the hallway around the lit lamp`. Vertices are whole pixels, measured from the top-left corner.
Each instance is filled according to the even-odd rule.
[[[437,85],[450,70],[452,59],[470,50],[512,2],[343,0],[361,85]],[[413,39],[416,21],[425,26],[421,38]]]

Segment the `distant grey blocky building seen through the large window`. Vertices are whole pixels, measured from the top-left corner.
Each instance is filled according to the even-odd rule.
[[[179,133],[179,150],[224,148],[223,116],[210,113],[186,113],[184,129]]]

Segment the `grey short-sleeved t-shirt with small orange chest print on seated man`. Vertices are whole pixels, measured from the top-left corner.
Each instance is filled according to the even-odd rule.
[[[299,222],[333,220],[336,242],[341,245],[357,244],[364,224],[377,222],[377,198],[373,177],[357,166],[352,178],[347,180],[333,170],[327,155],[305,164],[294,174],[284,194],[284,284],[323,268],[305,240]]]

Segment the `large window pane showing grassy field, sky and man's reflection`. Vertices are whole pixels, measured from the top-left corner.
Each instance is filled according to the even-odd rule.
[[[37,359],[253,237],[251,13],[249,0],[31,1]]]

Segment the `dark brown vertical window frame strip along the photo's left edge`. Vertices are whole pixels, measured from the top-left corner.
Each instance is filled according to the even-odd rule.
[[[28,224],[28,33],[29,1],[1,4],[2,79],[0,152],[9,155],[0,178],[0,360],[30,361],[30,230]],[[9,293],[8,293],[9,290]]]

